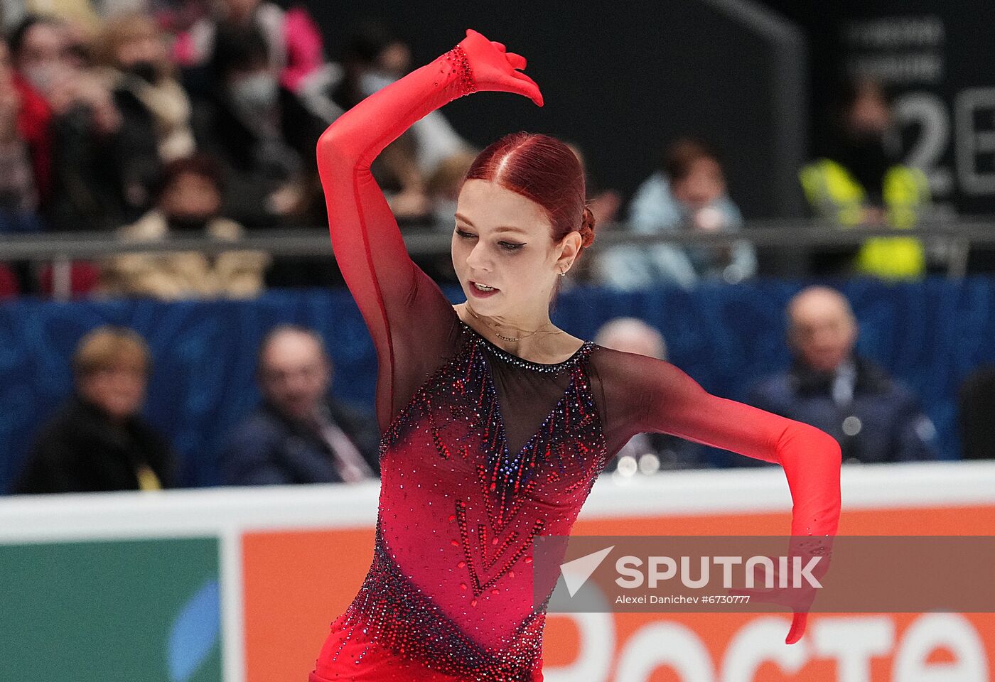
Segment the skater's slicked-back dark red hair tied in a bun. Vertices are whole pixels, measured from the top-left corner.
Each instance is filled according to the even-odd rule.
[[[555,137],[512,132],[478,154],[465,180],[497,182],[541,206],[559,242],[579,232],[581,248],[594,241],[594,216],[586,205],[584,169]]]

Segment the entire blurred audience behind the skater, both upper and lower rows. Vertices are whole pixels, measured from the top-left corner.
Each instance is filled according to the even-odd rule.
[[[29,8],[33,3],[28,3]],[[326,207],[315,145],[324,128],[363,97],[411,68],[409,46],[377,23],[354,27],[340,59],[301,6],[267,0],[47,3],[0,40],[0,235],[105,232],[121,242],[183,237],[240,240],[266,228],[315,227]],[[9,22],[8,22],[9,23]],[[799,169],[813,215],[839,229],[914,226],[930,208],[921,171],[899,161],[889,93],[849,83],[831,112],[819,155]],[[657,168],[627,206],[619,192],[589,186],[603,230],[635,235],[732,233],[743,218],[730,196],[721,153],[707,140],[663,141]],[[583,153],[573,147],[583,163]],[[374,176],[403,229],[451,230],[463,178],[477,150],[436,111],[376,160]],[[615,228],[623,229],[623,228]],[[616,245],[585,258],[578,280],[632,290],[658,283],[694,287],[757,274],[754,247]],[[213,253],[213,252],[212,252]],[[453,281],[448,256],[419,264]],[[889,279],[926,273],[919,240],[886,236],[813,256],[816,274]],[[275,260],[233,249],[128,252],[72,263],[76,294],[160,299],[249,298],[268,285],[329,283],[326,261]],[[48,293],[50,266],[0,263],[0,296]],[[848,462],[926,460],[936,431],[914,393],[855,351],[859,327],[838,291],[803,290],[786,310],[790,367],[758,384],[747,402],[818,426]],[[660,332],[612,320],[596,342],[666,359]],[[168,434],[141,417],[151,358],[133,331],[101,327],[74,357],[75,388],[38,432],[15,492],[159,489],[177,485]],[[229,434],[219,462],[231,485],[353,482],[375,477],[376,426],[330,398],[333,367],[309,329],[278,327],[259,350],[261,404]],[[995,369],[960,392],[968,458],[991,457],[987,415]],[[635,436],[606,470],[626,478],[715,465],[701,445],[663,434]],[[735,465],[761,465],[738,457]]]

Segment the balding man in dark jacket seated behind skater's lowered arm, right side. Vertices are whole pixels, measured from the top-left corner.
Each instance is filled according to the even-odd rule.
[[[808,287],[788,304],[788,319],[791,368],[757,386],[749,404],[823,429],[845,462],[936,457],[936,429],[916,396],[854,352],[857,321],[842,294]]]

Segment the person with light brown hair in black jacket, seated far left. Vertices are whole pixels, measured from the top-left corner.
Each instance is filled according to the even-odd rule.
[[[73,358],[76,391],[44,426],[15,493],[157,490],[172,487],[166,439],[138,414],[149,353],[129,329],[100,327]]]

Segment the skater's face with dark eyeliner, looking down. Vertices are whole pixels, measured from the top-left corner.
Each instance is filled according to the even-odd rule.
[[[578,233],[554,242],[545,209],[497,183],[468,180],[460,191],[453,267],[467,300],[484,315],[548,314],[558,273],[579,245]]]

